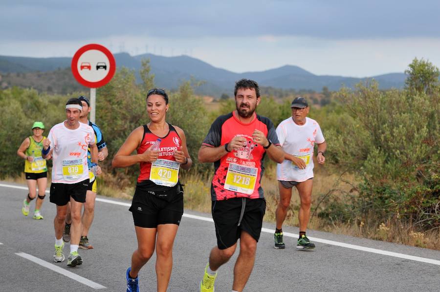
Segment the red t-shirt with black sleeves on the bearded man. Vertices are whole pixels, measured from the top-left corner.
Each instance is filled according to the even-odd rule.
[[[239,151],[232,150],[220,160],[214,162],[214,177],[211,184],[211,199],[213,201],[227,200],[230,198],[264,198],[263,188],[260,182],[264,172],[263,160],[266,150],[263,146],[252,141],[252,133],[258,129],[264,133],[268,140],[275,146],[279,145],[277,134],[273,123],[266,117],[254,115],[254,119],[249,124],[242,123],[237,117],[235,111],[218,117],[211,125],[208,134],[202,145],[209,147],[218,147],[229,143],[235,136],[246,138],[248,146]],[[241,158],[244,152],[250,152],[248,159]],[[256,167],[258,169],[255,188],[252,194],[245,194],[237,191],[224,189],[226,173],[229,163],[235,163],[247,167]]]

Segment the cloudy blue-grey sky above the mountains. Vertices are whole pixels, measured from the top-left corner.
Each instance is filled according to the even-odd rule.
[[[72,57],[100,43],[234,72],[290,64],[366,77],[415,57],[440,66],[439,15],[436,0],[1,0],[0,55]]]

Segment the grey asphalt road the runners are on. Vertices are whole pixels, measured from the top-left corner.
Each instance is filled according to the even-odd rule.
[[[9,186],[9,187],[8,187]],[[24,188],[24,189],[23,189]],[[25,186],[0,182],[0,291],[125,291],[125,271],[137,242],[130,202],[98,196],[89,233],[93,250],[79,250],[84,264],[55,263],[53,218],[21,213]],[[207,194],[208,195],[208,194]],[[47,196],[48,198],[48,196]],[[440,251],[320,231],[308,231],[315,250],[296,250],[297,228],[283,228],[286,249],[273,248],[273,224],[264,224],[254,270],[244,291],[440,291]],[[168,291],[195,292],[209,251],[216,244],[211,214],[185,210],[173,250]],[[69,245],[66,244],[65,254]],[[216,292],[232,288],[236,255],[219,270]],[[141,291],[156,290],[155,256],[139,273]]]

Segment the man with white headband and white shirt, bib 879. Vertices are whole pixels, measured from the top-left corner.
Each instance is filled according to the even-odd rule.
[[[81,208],[86,202],[89,184],[87,148],[90,147],[91,160],[96,163],[98,148],[95,143],[93,128],[79,122],[83,107],[77,98],[66,103],[66,121],[54,125],[43,143],[43,158],[52,154],[52,184],[50,202],[57,205],[55,228],[55,262],[63,262],[63,230],[66,220],[67,202],[70,202],[72,227],[70,229],[70,254],[67,266],[83,263],[78,254],[81,236]]]

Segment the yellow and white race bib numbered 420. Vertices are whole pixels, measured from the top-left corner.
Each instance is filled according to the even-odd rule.
[[[157,159],[151,164],[150,180],[159,186],[174,187],[179,180],[180,163]]]

